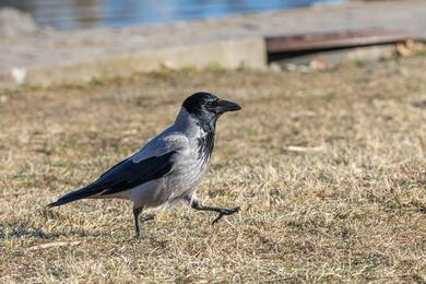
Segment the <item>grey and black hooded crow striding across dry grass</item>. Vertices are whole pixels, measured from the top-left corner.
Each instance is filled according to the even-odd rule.
[[[48,206],[80,199],[119,198],[133,202],[137,236],[144,209],[186,201],[191,208],[217,212],[213,224],[240,210],[205,206],[197,198],[197,187],[213,152],[217,118],[239,110],[236,103],[200,92],[184,100],[175,123],[150,140],[139,152],[118,163],[88,186],[72,191]]]

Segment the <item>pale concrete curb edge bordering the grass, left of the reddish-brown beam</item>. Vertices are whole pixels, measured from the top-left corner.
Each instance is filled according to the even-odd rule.
[[[228,69],[239,67],[263,69],[265,56],[265,45],[261,38],[222,40],[145,50],[131,55],[118,54],[67,64],[42,66],[28,69],[25,82],[39,86],[84,83],[94,78],[128,76],[135,72],[154,71],[159,68],[201,69],[220,66]],[[17,83],[15,73],[16,68],[1,76],[0,87],[15,87]]]

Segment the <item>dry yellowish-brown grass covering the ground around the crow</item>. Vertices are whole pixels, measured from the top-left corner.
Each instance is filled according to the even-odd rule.
[[[426,99],[425,70],[415,57],[3,92],[0,282],[424,283],[426,110],[411,102]],[[125,201],[45,209],[137,151],[199,90],[244,106],[218,121],[199,189],[239,214],[211,226],[209,213],[161,210],[133,239]]]

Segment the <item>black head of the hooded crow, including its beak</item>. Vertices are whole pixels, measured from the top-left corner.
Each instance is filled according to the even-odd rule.
[[[189,114],[205,119],[214,119],[226,111],[241,109],[241,107],[234,102],[218,98],[217,96],[205,92],[190,95],[184,100],[182,107]]]

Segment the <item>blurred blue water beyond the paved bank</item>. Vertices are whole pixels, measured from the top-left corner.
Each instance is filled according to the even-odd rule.
[[[58,29],[128,26],[273,11],[339,0],[0,0]],[[341,0],[340,0],[341,1]]]

